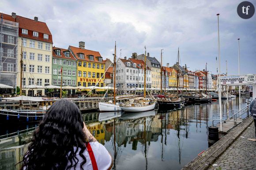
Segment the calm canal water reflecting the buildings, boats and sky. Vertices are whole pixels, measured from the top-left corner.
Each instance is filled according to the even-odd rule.
[[[242,107],[248,99],[242,98]],[[238,110],[238,98],[222,100]],[[241,107],[241,108],[242,108]],[[219,119],[219,103],[191,105],[173,111],[136,114],[90,113],[84,121],[107,148],[115,170],[179,170],[208,148],[208,126]],[[38,124],[0,125],[0,170],[18,170],[30,137]]]

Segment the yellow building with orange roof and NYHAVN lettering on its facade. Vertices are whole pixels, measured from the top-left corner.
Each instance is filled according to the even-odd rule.
[[[98,86],[104,85],[105,63],[99,52],[87,50],[84,48],[84,42],[79,42],[79,48],[69,46],[70,52],[77,61],[77,86]],[[99,90],[101,91],[101,90]]]

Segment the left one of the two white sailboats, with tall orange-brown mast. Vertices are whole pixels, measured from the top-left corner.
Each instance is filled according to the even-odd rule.
[[[114,77],[113,77],[113,84],[114,84],[114,100],[109,102],[99,102],[99,110],[100,111],[121,111],[119,104],[116,103],[116,51],[117,51],[117,44],[115,42],[115,54],[114,54]]]

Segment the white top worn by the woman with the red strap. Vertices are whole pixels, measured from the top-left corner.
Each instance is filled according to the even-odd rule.
[[[96,159],[96,163],[98,166],[98,170],[108,170],[112,163],[112,158],[109,155],[109,152],[107,149],[98,142],[90,142],[90,146],[92,148],[92,151],[94,153],[94,157]],[[76,150],[76,147],[74,147],[74,151]],[[71,170],[80,170],[80,164],[83,162],[83,158],[79,155],[81,148],[78,148],[78,152],[76,152],[76,157],[78,158],[78,163],[76,165],[76,168],[72,167]],[[86,158],[86,163],[83,165],[84,170],[93,170],[92,163],[90,160],[90,155],[87,151],[87,149],[84,150],[83,155]],[[75,162],[73,162],[74,165]],[[70,165],[70,162],[68,162],[68,165]],[[67,165],[67,166],[68,166]]]

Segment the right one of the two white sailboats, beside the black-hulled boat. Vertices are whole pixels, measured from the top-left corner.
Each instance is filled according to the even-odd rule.
[[[130,99],[126,103],[120,104],[120,108],[127,112],[141,112],[151,111],[155,107],[154,98],[146,98],[146,46],[145,46],[145,57],[144,57],[144,98]]]

